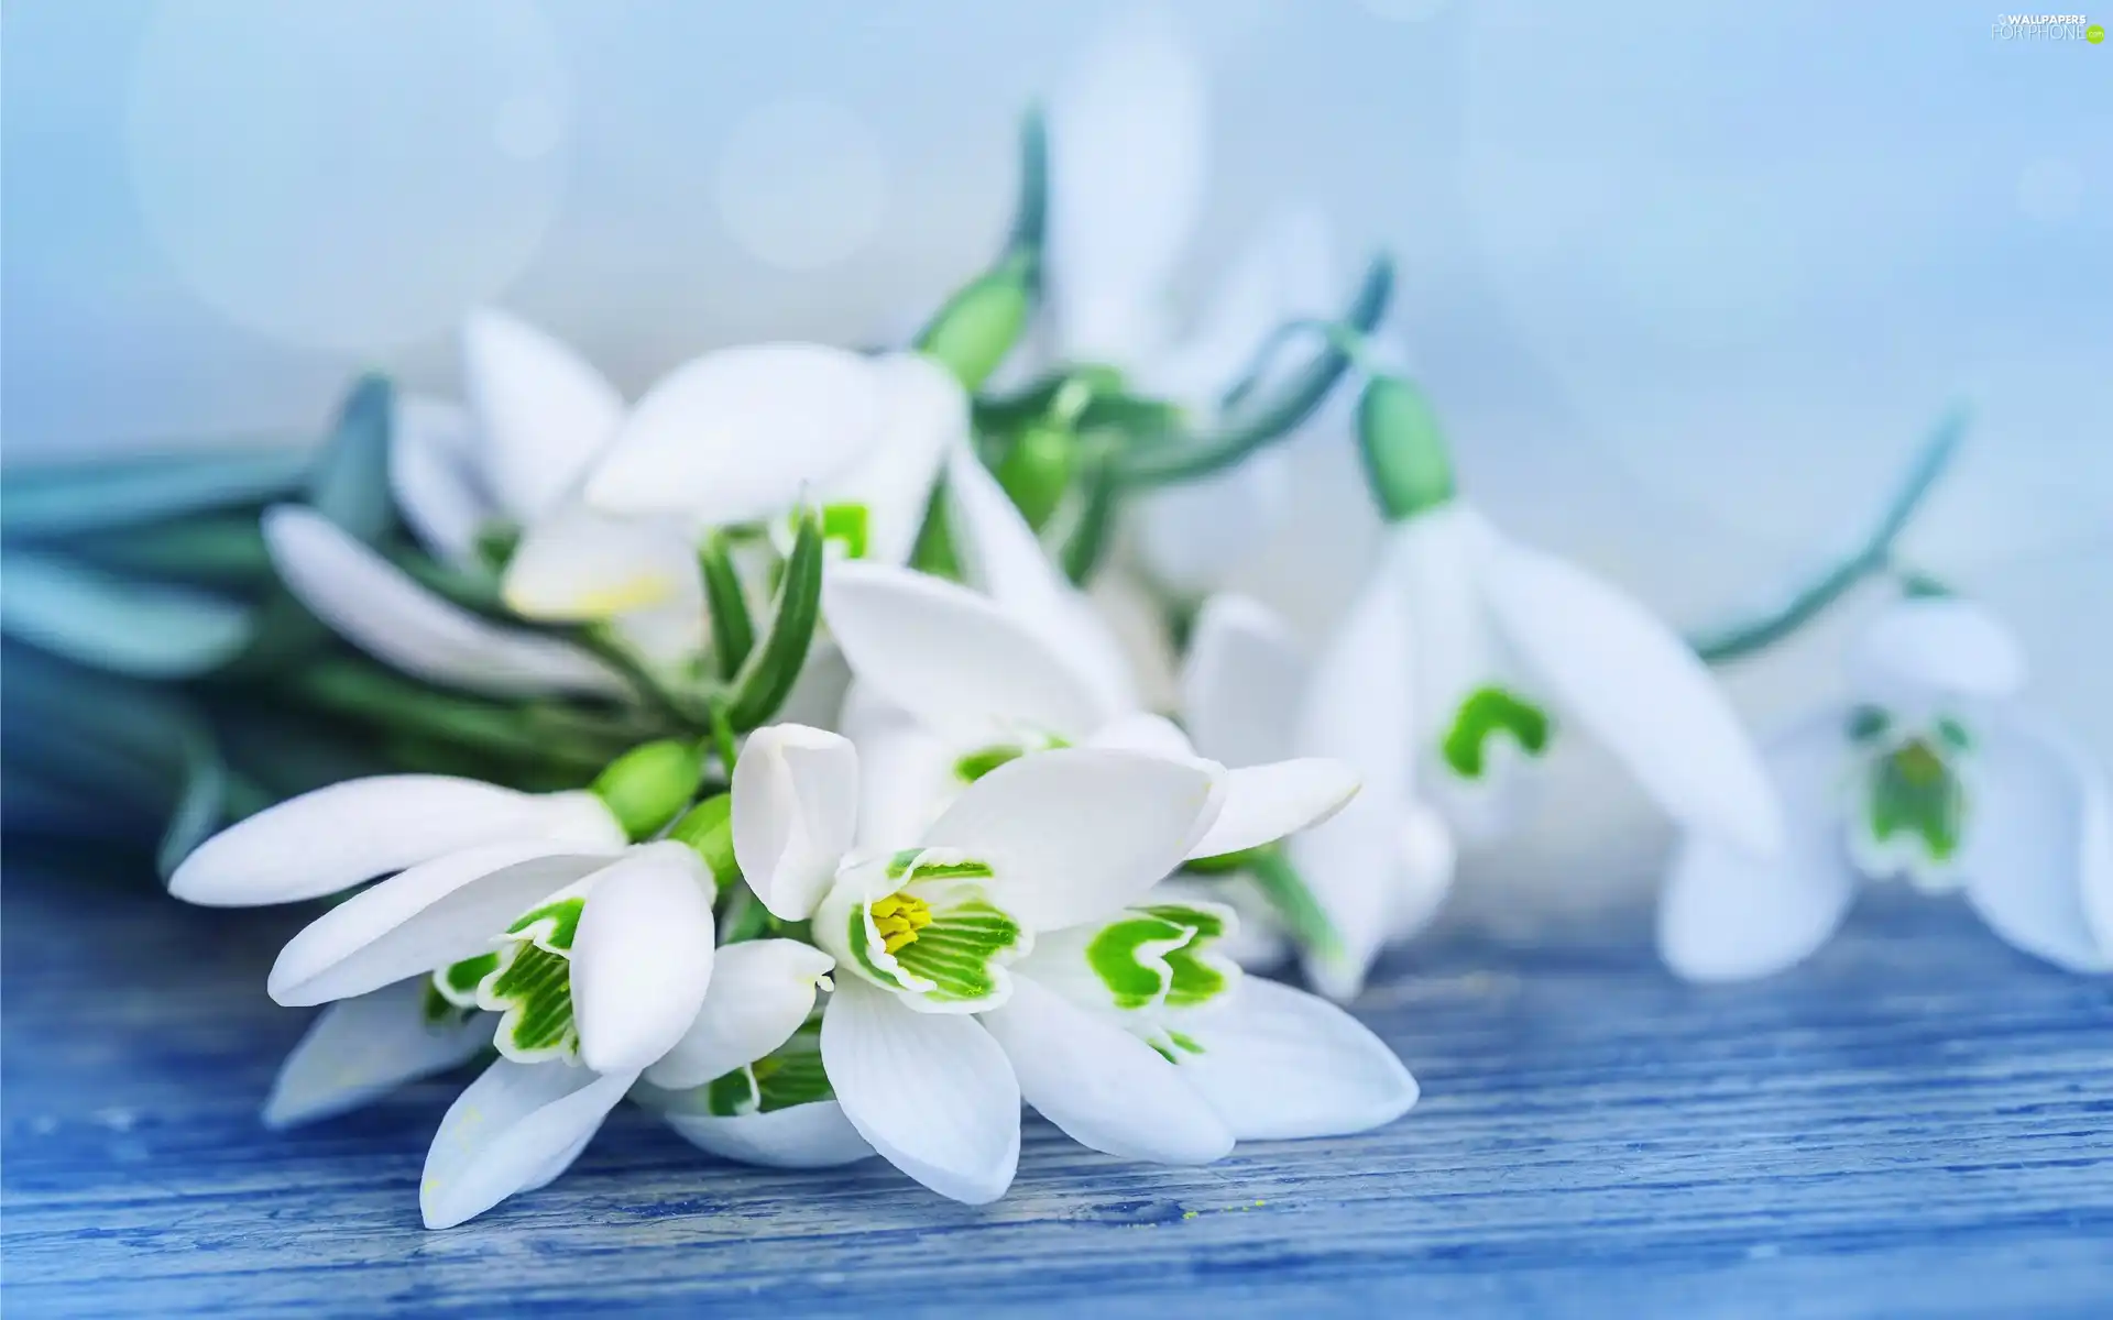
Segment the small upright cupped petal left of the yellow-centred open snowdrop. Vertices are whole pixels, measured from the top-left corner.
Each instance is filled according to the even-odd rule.
[[[733,860],[780,921],[805,921],[858,836],[858,750],[805,724],[748,735],[733,765]]]

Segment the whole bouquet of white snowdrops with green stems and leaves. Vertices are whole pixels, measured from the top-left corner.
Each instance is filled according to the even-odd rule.
[[[1059,106],[1052,171],[1029,118],[1010,239],[902,351],[718,348],[628,403],[486,310],[461,406],[368,378],[313,454],[11,477],[11,824],[123,803],[182,900],[334,900],[270,972],[328,1007],[268,1121],[497,1054],[433,1138],[431,1227],[556,1178],[623,1098],[976,1204],[1023,1102],[1152,1162],[1386,1124],[1416,1083],[1329,999],[1570,731],[1686,832],[1684,976],[1798,961],[1857,874],[2107,969],[2102,779],[2016,705],[2009,636],[1893,562],[1957,418],[1855,553],[1682,640],[1456,488],[1373,342],[1384,260],[1333,308],[1249,262],[1166,336],[1181,226],[1065,186],[1103,120]],[[1316,427],[1390,530],[1308,648],[1209,585]],[[1171,708],[1084,591],[1118,543]],[[1709,663],[1874,577],[1902,602],[1862,701],[1750,739]],[[1325,997],[1255,976],[1291,959]]]

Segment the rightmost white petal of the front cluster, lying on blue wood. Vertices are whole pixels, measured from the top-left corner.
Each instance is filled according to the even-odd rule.
[[[1386,1043],[1333,1003],[1245,978],[1192,1033],[1181,1075],[1238,1140],[1344,1136],[1416,1105],[1416,1079]]]

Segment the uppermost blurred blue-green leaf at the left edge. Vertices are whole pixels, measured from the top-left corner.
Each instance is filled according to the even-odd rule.
[[[0,528],[15,541],[256,507],[300,490],[308,460],[306,448],[256,448],[11,469]]]

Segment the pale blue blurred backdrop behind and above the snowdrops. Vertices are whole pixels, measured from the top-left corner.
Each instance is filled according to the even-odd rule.
[[[1177,317],[1287,205],[1386,247],[1462,486],[1697,627],[1849,543],[1967,401],[1906,555],[2113,758],[2113,57],[1963,0],[17,0],[6,460],[313,437],[357,370],[450,389],[492,300],[628,395],[714,344],[892,342],[1004,232],[1021,106],[1135,25],[1207,93]],[[1346,429],[1293,454],[1238,585],[1319,629],[1380,522]],[[1834,695],[1872,604],[1735,667],[1743,712]],[[1462,912],[1654,883],[1665,826],[1555,760]]]

